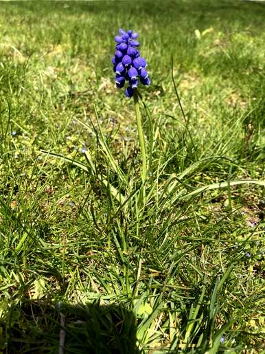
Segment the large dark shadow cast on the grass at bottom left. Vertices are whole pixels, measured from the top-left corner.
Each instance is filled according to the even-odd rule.
[[[130,353],[136,320],[122,305],[23,302],[0,322],[0,353]],[[1,351],[2,350],[2,351]]]

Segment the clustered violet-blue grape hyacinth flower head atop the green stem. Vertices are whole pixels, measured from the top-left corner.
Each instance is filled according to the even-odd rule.
[[[129,82],[124,93],[130,98],[133,96],[135,89],[137,89],[139,82],[143,85],[150,85],[148,71],[146,71],[147,63],[137,47],[139,42],[135,39],[139,36],[138,33],[128,30],[127,32],[122,28],[119,29],[119,36],[115,36],[116,51],[112,58],[113,71],[115,72],[116,87],[121,89],[125,82]]]

